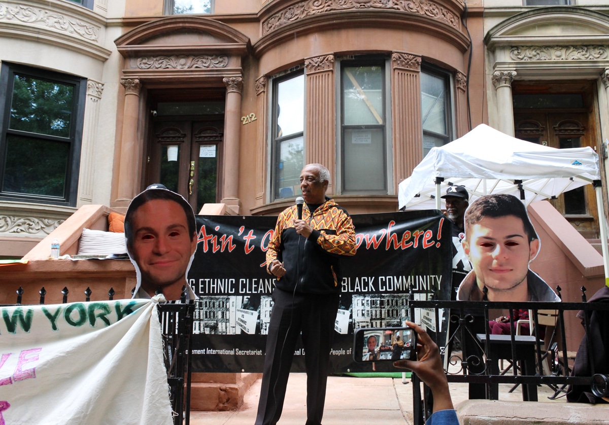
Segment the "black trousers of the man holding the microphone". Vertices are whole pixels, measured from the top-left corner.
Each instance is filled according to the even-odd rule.
[[[256,425],[275,425],[281,417],[300,332],[307,374],[306,425],[320,425],[339,294],[292,294],[275,288],[273,301]]]

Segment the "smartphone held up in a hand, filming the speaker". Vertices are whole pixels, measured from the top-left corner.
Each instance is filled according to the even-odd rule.
[[[353,341],[357,363],[417,359],[417,332],[412,328],[359,328]]]

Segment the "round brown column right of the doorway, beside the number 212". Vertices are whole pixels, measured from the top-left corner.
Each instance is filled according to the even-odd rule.
[[[224,191],[222,203],[239,214],[241,200],[239,191],[239,137],[241,135],[241,92],[243,79],[227,77],[222,80],[227,86],[224,114]]]

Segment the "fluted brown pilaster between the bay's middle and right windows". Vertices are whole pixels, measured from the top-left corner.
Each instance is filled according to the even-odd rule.
[[[395,190],[423,158],[421,132],[421,57],[393,52],[392,124]]]

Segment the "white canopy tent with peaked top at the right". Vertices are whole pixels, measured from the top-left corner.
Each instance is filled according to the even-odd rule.
[[[505,135],[481,124],[462,138],[432,148],[400,183],[400,209],[442,209],[440,195],[453,184],[470,192],[470,203],[486,194],[507,193],[529,203],[600,182],[599,157],[591,147],[556,149]],[[595,186],[600,240],[609,278],[607,225],[600,185]]]

